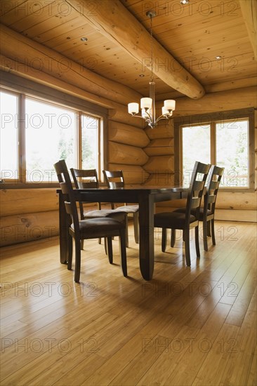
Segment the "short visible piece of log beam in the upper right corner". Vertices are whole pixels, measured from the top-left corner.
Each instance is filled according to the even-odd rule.
[[[257,1],[239,0],[242,16],[246,24],[246,29],[253,47],[254,58],[257,60]]]

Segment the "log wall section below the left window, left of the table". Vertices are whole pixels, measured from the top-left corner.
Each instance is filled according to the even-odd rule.
[[[0,201],[0,246],[59,233],[56,189],[1,189]]]

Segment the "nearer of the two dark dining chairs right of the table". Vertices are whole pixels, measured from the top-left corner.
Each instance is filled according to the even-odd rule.
[[[173,212],[161,212],[154,214],[154,227],[162,228],[162,252],[166,251],[166,229],[171,229],[172,233],[175,229],[183,230],[183,241],[185,241],[185,260],[188,266],[191,265],[190,260],[190,229],[195,228],[195,248],[197,257],[200,257],[199,250],[199,210],[204,192],[204,185],[211,165],[202,164],[199,161],[195,162],[194,170],[190,180],[190,187],[187,194],[187,205],[185,213],[179,210]],[[192,210],[195,214],[192,215]]]

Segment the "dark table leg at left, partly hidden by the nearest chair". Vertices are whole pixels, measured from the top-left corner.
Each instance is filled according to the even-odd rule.
[[[72,237],[69,234],[69,217],[67,216],[63,194],[59,194],[59,239],[60,262],[66,264],[69,253],[72,253]]]

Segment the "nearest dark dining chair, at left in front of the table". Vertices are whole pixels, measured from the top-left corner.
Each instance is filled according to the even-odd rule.
[[[65,195],[65,209],[71,217],[71,224],[69,227],[70,236],[74,239],[75,244],[75,272],[74,281],[79,283],[80,269],[81,269],[81,240],[97,239],[99,237],[107,237],[107,254],[110,264],[112,264],[112,237],[119,236],[119,246],[121,254],[121,269],[124,277],[127,276],[126,268],[126,222],[115,220],[114,218],[87,218],[79,220],[77,211],[77,204],[74,197],[74,189],[72,187],[72,180],[70,173],[67,170],[65,160],[62,159],[54,164],[62,194]],[[69,248],[68,255],[68,269],[72,269],[72,248]]]

